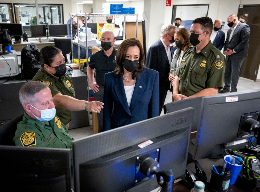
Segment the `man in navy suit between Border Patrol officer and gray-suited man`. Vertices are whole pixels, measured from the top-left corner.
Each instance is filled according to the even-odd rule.
[[[216,19],[213,24],[213,30],[210,36],[212,45],[221,50],[225,43],[225,33],[221,30],[222,20]]]

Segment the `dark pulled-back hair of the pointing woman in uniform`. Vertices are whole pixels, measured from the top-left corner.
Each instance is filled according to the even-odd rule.
[[[41,49],[40,54],[36,55],[36,59],[41,63],[42,67],[44,67],[44,64],[51,67],[51,63],[53,63],[53,60],[59,53],[62,54],[62,51],[59,48],[54,46],[46,46]]]

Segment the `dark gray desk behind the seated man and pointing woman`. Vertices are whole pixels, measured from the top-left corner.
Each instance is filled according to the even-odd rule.
[[[6,78],[1,78],[0,82],[4,82],[5,80]],[[75,90],[76,99],[87,100],[87,75],[79,69],[74,69],[71,80]],[[26,80],[15,79],[0,84],[0,126],[12,118],[24,113],[24,109],[19,100],[19,90],[25,82]],[[88,112],[73,111],[69,129],[85,126],[88,126]]]

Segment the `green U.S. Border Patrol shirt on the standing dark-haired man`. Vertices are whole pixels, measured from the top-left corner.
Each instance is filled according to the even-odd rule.
[[[222,88],[225,57],[211,41],[199,53],[189,48],[176,71],[179,92],[187,97],[205,88]]]

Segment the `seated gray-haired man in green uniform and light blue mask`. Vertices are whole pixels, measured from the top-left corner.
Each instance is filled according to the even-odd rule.
[[[13,139],[16,146],[72,148],[73,138],[56,116],[51,91],[46,84],[39,81],[23,84],[19,99],[25,113]]]

